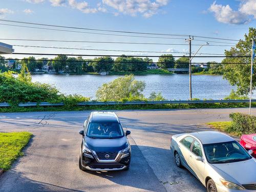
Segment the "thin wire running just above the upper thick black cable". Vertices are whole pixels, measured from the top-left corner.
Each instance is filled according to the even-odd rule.
[[[50,48],[50,49],[68,49],[68,50],[88,50],[88,51],[116,51],[116,52],[139,52],[139,53],[182,53],[187,52],[168,52],[168,51],[133,51],[133,50],[111,50],[111,49],[86,49],[86,48],[67,48],[67,47],[48,47],[48,46],[30,46],[30,45],[13,45],[15,47],[33,47],[33,48]],[[199,53],[203,55],[224,55],[218,53]]]

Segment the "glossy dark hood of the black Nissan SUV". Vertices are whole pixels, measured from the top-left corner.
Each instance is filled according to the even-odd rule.
[[[86,137],[84,141],[86,146],[95,152],[118,152],[129,145],[126,137],[118,139],[92,139]]]

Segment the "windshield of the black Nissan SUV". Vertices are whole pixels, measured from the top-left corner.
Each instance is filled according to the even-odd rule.
[[[124,136],[120,123],[90,123],[87,136],[98,139],[115,139]]]

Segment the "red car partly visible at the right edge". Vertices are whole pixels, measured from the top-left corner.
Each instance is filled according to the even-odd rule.
[[[240,144],[248,151],[252,150],[252,157],[256,158],[256,134],[242,135]]]

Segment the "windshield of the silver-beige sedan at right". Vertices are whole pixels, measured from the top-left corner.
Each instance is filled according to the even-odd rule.
[[[203,146],[209,163],[231,163],[251,159],[251,156],[237,141],[204,144]]]

